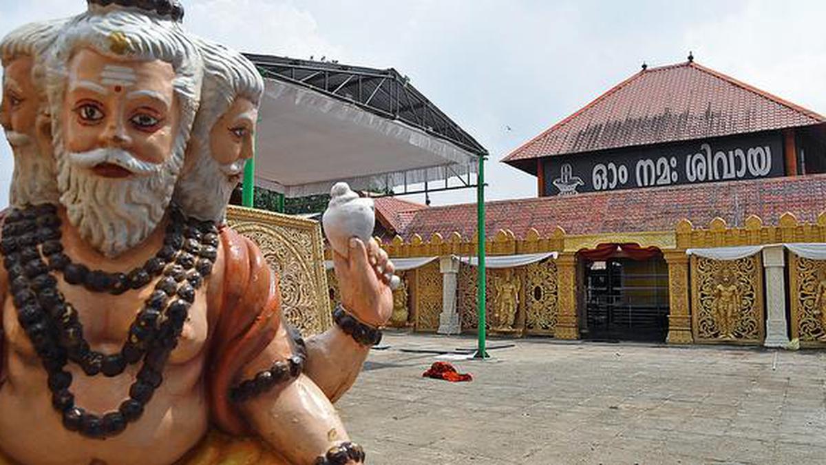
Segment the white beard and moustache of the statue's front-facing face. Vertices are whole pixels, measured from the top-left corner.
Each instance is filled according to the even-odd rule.
[[[177,179],[170,164],[155,165],[114,148],[65,153],[59,160],[60,202],[80,237],[106,256],[118,256],[158,227]],[[106,178],[91,168],[102,162],[130,170],[128,178]]]

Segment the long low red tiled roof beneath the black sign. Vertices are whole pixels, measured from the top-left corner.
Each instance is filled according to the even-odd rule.
[[[503,200],[486,204],[486,209],[488,237],[499,229],[525,237],[529,228],[547,237],[557,226],[568,234],[673,231],[683,218],[697,228],[707,228],[715,217],[742,227],[751,214],[764,224],[776,225],[786,212],[794,213],[799,221],[814,222],[826,210],[826,175]],[[434,232],[447,237],[453,231],[469,238],[476,232],[476,204],[410,213],[407,227],[397,230],[406,239],[417,233],[427,240]]]

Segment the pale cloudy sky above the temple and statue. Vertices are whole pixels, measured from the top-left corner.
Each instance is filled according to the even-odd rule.
[[[487,199],[536,195],[502,157],[649,66],[686,60],[826,114],[826,2],[183,0],[184,26],[237,50],[395,68],[482,146]],[[0,36],[83,0],[0,0]],[[0,205],[12,156],[0,141]],[[475,201],[472,189],[431,194]],[[423,201],[422,196],[406,199]]]

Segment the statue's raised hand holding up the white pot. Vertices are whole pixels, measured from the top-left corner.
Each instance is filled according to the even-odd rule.
[[[365,244],[351,238],[348,256],[333,250],[333,266],[344,309],[364,324],[387,324],[393,311],[393,293],[387,276],[392,276],[394,268],[376,240],[370,238]]]

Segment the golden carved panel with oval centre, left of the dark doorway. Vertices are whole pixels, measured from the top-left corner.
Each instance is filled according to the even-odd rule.
[[[553,260],[525,266],[525,332],[553,336],[558,315],[557,265]]]

